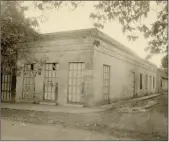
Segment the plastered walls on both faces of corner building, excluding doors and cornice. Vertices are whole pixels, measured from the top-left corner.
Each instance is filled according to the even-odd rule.
[[[113,45],[100,41],[100,46],[93,45],[93,40],[47,40],[22,44],[22,50],[28,49],[31,54],[26,57],[30,62],[47,58],[46,63],[59,63],[58,104],[67,103],[69,62],[85,63],[85,86],[83,104],[94,106],[103,102],[103,65],[109,65],[110,101],[123,100],[134,96],[148,95],[157,92],[157,69],[155,66],[140,61]],[[23,48],[25,47],[25,48]],[[24,59],[20,62],[26,63]],[[132,90],[132,73],[135,73],[134,94]],[[140,89],[140,73],[142,74],[142,89]],[[146,86],[146,75],[148,82]],[[151,81],[150,81],[151,76]],[[153,88],[153,77],[155,77]],[[151,83],[150,83],[151,82]],[[23,71],[17,77],[16,101],[43,100],[44,72],[35,77],[35,98],[22,98]]]

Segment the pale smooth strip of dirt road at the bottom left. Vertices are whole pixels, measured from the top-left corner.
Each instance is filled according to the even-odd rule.
[[[64,128],[61,125],[37,125],[1,120],[1,140],[120,140],[121,138],[79,130]],[[128,140],[129,138],[125,138]]]

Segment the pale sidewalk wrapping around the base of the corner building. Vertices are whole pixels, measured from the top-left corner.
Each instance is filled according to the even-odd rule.
[[[110,108],[117,107],[122,104],[132,103],[135,101],[146,100],[149,98],[153,98],[159,96],[161,94],[153,94],[149,96],[143,96],[140,98],[134,98],[125,101],[119,101],[117,103],[112,103],[108,105],[102,105],[94,108],[77,108],[77,107],[68,107],[68,106],[51,106],[51,105],[44,105],[44,104],[28,104],[28,103],[1,103],[1,108],[9,108],[9,109],[18,109],[18,110],[33,110],[33,111],[49,111],[49,112],[61,112],[61,113],[94,113],[105,111]]]

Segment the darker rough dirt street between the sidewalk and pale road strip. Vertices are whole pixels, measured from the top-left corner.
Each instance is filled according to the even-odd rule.
[[[80,137],[80,134],[78,135],[77,133],[72,135],[76,137],[74,137],[75,139],[82,138],[81,140],[167,140],[167,97],[167,95],[162,95],[150,100],[139,101],[97,113],[68,114],[1,109],[1,116],[4,120],[14,120],[19,123],[30,123],[30,126],[41,125],[40,127],[43,127],[44,129],[47,129],[44,125],[48,125],[51,129],[53,127],[57,127],[58,131],[59,129],[64,128],[67,130],[68,136],[68,130],[74,130],[74,132],[79,131],[79,133],[86,135],[82,134],[82,137]],[[151,106],[152,104],[153,106]],[[24,129],[26,128],[27,127]],[[7,132],[8,131],[4,133],[4,136],[7,135]],[[97,137],[94,137],[92,133],[97,133]],[[12,134],[9,135],[12,136]],[[61,136],[59,137],[61,138]],[[67,139],[72,139],[66,135],[65,137]]]

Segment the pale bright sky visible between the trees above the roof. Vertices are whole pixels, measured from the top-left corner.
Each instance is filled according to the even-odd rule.
[[[25,3],[29,5],[31,2],[27,1]],[[68,8],[38,11],[30,6],[30,9],[25,13],[25,16],[36,17],[43,14],[46,17],[45,21],[40,23],[40,26],[38,27],[40,33],[94,28],[93,21],[89,18],[90,13],[94,11],[94,3],[94,1],[87,1],[84,6],[81,6],[74,11],[70,11]],[[152,5],[153,4],[154,3],[152,2]],[[156,13],[150,11],[148,18],[144,22],[147,25],[150,25],[155,20]],[[129,47],[141,58],[145,58],[147,55],[144,48],[147,46],[148,41],[142,35],[134,42],[129,41],[122,33],[122,27],[118,21],[114,20],[111,23],[107,22],[104,25],[104,29],[101,31]],[[157,67],[160,67],[161,58],[162,55],[154,55],[150,61],[157,65]]]

